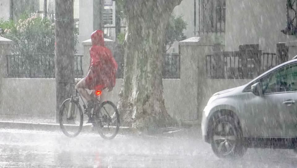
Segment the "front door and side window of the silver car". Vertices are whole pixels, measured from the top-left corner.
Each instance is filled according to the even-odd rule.
[[[260,82],[263,96],[248,96],[247,112],[250,136],[288,137],[297,135],[297,64],[276,69],[252,84]]]

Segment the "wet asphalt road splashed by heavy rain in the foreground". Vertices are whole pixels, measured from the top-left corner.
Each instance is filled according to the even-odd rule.
[[[248,149],[243,158],[214,156],[201,139],[0,129],[0,167],[297,167],[292,150]]]

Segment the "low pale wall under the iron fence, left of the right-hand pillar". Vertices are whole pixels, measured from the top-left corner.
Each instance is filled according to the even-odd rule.
[[[179,81],[163,80],[163,96],[171,116],[179,113],[177,109],[180,102],[176,101],[176,97],[179,97]],[[103,91],[101,100],[110,100],[117,105],[122,82],[122,79],[117,79],[113,91]],[[0,114],[55,116],[55,79],[4,78],[2,85]]]

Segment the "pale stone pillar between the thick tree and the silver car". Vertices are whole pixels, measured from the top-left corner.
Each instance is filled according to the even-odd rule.
[[[212,53],[213,45],[214,41],[209,37],[191,37],[179,42],[182,120],[200,123],[204,102],[209,99],[204,91],[207,87],[206,55]]]

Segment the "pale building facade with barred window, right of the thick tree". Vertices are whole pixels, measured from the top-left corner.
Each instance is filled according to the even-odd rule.
[[[259,44],[260,50],[277,52],[277,43],[296,40],[292,33],[282,31],[290,22],[296,24],[296,3],[287,0],[183,0],[173,12],[183,15],[188,24],[184,34],[188,38],[208,36],[213,43],[224,45],[226,51],[236,51],[239,45]],[[177,52],[178,43],[173,48]]]

